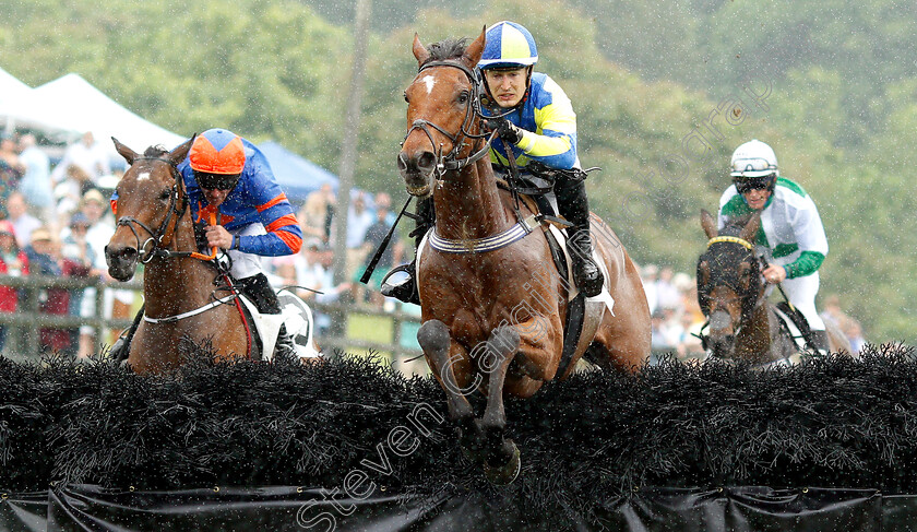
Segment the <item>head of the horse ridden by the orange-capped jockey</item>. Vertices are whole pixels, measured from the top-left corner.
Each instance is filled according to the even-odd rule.
[[[176,166],[184,161],[194,139],[171,152],[151,146],[143,155],[111,140],[130,167],[116,189],[118,226],[105,247],[105,260],[112,277],[129,281],[138,260],[150,260],[154,249],[170,241],[184,212],[187,197]]]

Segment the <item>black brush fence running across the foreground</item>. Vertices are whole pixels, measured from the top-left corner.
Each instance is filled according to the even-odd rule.
[[[552,382],[507,403],[523,469],[505,488],[462,457],[430,378],[366,358],[229,365],[186,348],[188,365],[154,378],[107,362],[0,359],[2,492],[51,485],[49,497],[67,507],[68,497],[97,501],[86,489],[300,486],[291,489],[322,490],[315,500],[337,521],[346,516],[329,501],[342,496],[428,517],[474,501],[499,509],[489,522],[519,518],[525,530],[602,528],[611,508],[650,493],[917,494],[917,362],[902,345],[763,371],[669,359],[635,376]],[[285,511],[296,517],[294,500]],[[318,522],[309,530],[330,530]],[[492,530],[524,530],[513,527]]]

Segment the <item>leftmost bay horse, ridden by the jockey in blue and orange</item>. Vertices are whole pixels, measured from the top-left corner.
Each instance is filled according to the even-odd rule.
[[[130,167],[118,181],[117,229],[105,247],[109,274],[129,281],[145,264],[144,319],[131,342],[128,364],[138,373],[162,373],[181,364],[179,342],[212,342],[218,358],[248,357],[249,334],[231,292],[211,257],[196,252],[184,181],[176,166],[193,139],[171,152],[143,155],[112,138]]]

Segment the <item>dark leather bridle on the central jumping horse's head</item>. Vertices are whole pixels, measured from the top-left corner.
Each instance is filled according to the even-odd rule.
[[[432,145],[433,153],[437,157],[434,177],[437,178],[437,180],[442,180],[443,176],[448,170],[461,170],[462,168],[476,163],[477,161],[481,159],[485,155],[487,155],[490,152],[490,143],[497,137],[497,131],[493,131],[492,133],[471,132],[472,123],[474,123],[475,120],[481,122],[485,118],[480,104],[480,87],[484,83],[480,76],[476,74],[475,71],[473,71],[472,69],[456,61],[430,61],[420,67],[420,69],[417,71],[417,74],[419,75],[420,72],[433,67],[451,67],[454,69],[458,69],[462,72],[464,72],[465,75],[468,78],[468,81],[472,83],[472,94],[469,95],[469,105],[465,110],[465,119],[462,121],[462,127],[455,134],[450,133],[441,126],[438,126],[429,120],[414,120],[414,122],[410,125],[410,128],[408,128],[407,133],[405,133],[404,140],[402,140],[402,145],[404,145],[405,141],[407,141],[407,138],[410,135],[410,133],[414,132],[414,130],[419,129],[420,131],[422,131],[424,134],[427,135],[427,139],[430,140],[430,144]],[[433,140],[433,135],[430,132],[430,128],[436,129],[452,142],[452,150],[448,154],[443,155],[442,143],[439,144],[439,147],[437,146],[437,142],[436,140]],[[465,139],[487,138],[487,141],[484,143],[484,146],[477,152],[468,155],[467,157],[460,158],[460,152],[466,145],[465,142],[458,142],[458,140],[462,137],[464,137]]]

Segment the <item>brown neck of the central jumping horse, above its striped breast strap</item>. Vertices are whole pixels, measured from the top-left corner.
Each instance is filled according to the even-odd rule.
[[[464,240],[493,236],[515,221],[503,205],[490,157],[450,172],[433,191],[437,234]]]

